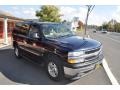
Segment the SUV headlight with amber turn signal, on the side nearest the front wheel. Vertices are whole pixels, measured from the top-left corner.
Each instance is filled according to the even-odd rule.
[[[68,63],[80,63],[80,62],[84,62],[84,58],[80,57],[82,55],[84,55],[84,51],[69,52],[68,53]]]

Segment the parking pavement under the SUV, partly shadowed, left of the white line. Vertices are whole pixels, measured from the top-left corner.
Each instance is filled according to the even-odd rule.
[[[103,67],[76,81],[54,82],[48,78],[43,67],[24,58],[16,59],[12,47],[0,50],[0,73],[0,84],[3,85],[111,85]]]

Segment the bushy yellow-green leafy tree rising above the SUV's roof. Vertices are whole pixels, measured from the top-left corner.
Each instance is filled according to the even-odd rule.
[[[59,9],[54,5],[43,5],[40,10],[36,11],[36,16],[40,21],[60,22]]]

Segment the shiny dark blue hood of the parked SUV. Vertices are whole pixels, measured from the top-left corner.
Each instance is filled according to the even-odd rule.
[[[54,45],[56,45],[58,48],[64,48],[69,49],[69,51],[74,51],[74,50],[88,50],[88,49],[93,49],[101,46],[101,43],[90,39],[90,38],[85,38],[83,39],[82,37],[79,36],[71,36],[71,37],[62,37],[58,39],[51,39],[50,40]]]

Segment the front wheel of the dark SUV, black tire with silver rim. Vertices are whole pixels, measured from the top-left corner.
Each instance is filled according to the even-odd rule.
[[[57,56],[47,56],[46,71],[50,79],[54,81],[61,81],[64,78],[64,69],[60,63],[60,58]]]

